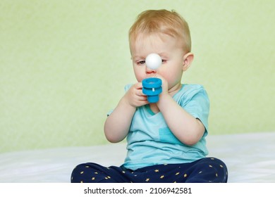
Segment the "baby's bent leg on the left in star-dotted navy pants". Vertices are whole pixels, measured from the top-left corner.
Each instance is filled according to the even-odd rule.
[[[71,174],[72,183],[116,183],[127,182],[121,167],[104,167],[97,163],[83,163],[75,167]]]

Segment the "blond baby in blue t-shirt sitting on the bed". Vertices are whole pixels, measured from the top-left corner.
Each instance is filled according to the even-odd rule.
[[[138,82],[126,85],[104,124],[108,141],[127,137],[125,162],[80,164],[71,182],[227,182],[226,165],[206,157],[207,92],[199,84],[181,83],[194,58],[188,23],[175,11],[144,11],[130,27],[129,44]],[[158,69],[146,66],[151,53],[161,57]],[[162,81],[156,103],[142,93],[142,80],[149,77]]]

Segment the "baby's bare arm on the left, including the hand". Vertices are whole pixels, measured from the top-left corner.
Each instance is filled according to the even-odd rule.
[[[136,108],[147,103],[147,96],[142,93],[141,83],[130,87],[105,121],[104,133],[106,139],[113,143],[122,141],[128,134]]]

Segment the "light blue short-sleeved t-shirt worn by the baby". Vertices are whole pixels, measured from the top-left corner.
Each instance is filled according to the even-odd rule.
[[[130,88],[126,86],[126,91]],[[163,115],[154,114],[149,105],[138,107],[127,136],[127,157],[124,167],[137,170],[141,167],[168,163],[190,163],[207,154],[205,136],[208,131],[209,98],[201,85],[183,84],[173,99],[205,127],[202,139],[187,146],[173,135]]]

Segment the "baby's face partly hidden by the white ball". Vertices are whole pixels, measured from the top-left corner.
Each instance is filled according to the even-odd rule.
[[[168,82],[168,88],[181,83],[183,74],[183,56],[185,53],[180,48],[177,40],[169,35],[152,34],[138,37],[131,47],[133,68],[138,82],[145,78],[161,75]],[[162,64],[157,70],[147,68],[145,58],[150,53],[157,53],[161,56]]]

